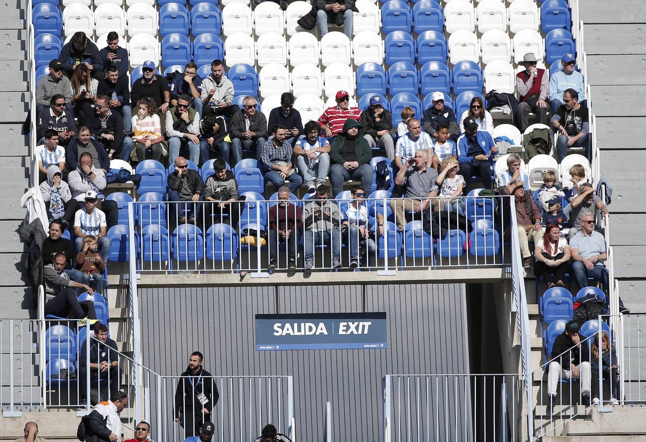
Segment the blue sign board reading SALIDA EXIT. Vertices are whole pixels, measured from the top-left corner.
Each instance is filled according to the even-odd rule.
[[[386,313],[256,315],[256,350],[388,348]]]

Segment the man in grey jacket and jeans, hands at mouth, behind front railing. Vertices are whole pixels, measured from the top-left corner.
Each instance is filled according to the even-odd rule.
[[[314,268],[314,246],[328,245],[332,249],[332,266],[341,266],[340,213],[339,206],[329,198],[329,188],[320,185],[316,199],[305,203],[303,225],[305,227],[305,270]]]

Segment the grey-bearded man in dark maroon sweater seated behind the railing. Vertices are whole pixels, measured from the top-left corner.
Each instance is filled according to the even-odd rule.
[[[269,270],[278,266],[278,243],[286,243],[287,269],[297,268],[298,246],[303,231],[300,207],[289,202],[289,187],[278,189],[278,203],[269,208]]]

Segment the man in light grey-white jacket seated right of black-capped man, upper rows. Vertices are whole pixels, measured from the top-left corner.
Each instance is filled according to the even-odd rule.
[[[211,62],[211,75],[202,81],[202,117],[213,114],[231,119],[240,107],[233,104],[233,83],[224,76],[222,60]]]

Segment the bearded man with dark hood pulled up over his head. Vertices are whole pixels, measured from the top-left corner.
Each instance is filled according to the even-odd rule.
[[[343,190],[343,183],[348,179],[359,181],[364,188],[372,186],[372,150],[363,135],[363,127],[359,122],[348,118],[343,125],[343,133],[332,140],[329,181],[334,196]]]

